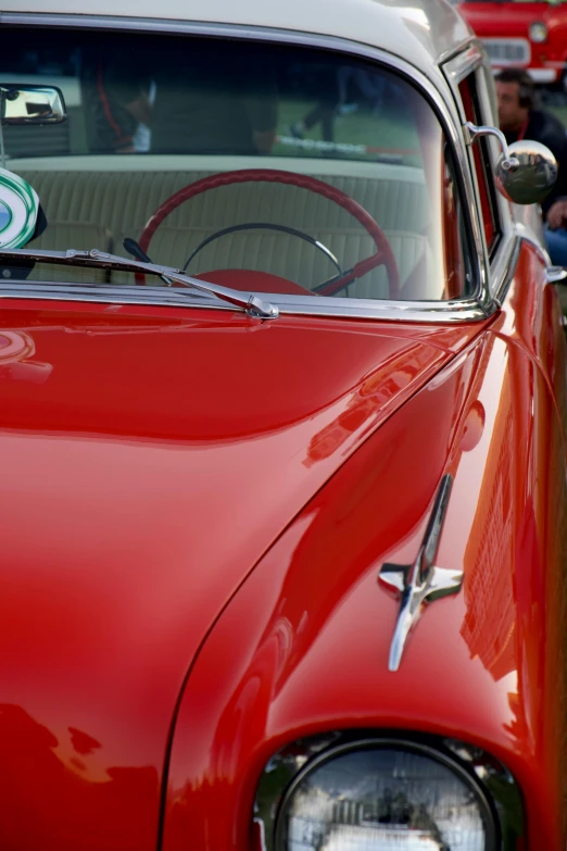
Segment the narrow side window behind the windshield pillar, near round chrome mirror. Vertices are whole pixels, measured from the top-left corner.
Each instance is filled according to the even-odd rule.
[[[469,74],[468,77],[459,83],[458,91],[463,101],[466,121],[470,121],[472,124],[484,124],[475,73]],[[487,138],[480,137],[476,139],[471,151],[477,174],[484,238],[489,256],[492,256],[500,240],[502,226]]]

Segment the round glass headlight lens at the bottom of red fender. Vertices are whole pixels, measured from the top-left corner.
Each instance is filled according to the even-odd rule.
[[[417,742],[370,739],[326,750],[278,809],[275,851],[491,851],[492,810],[476,779]],[[270,844],[270,843],[269,843]]]

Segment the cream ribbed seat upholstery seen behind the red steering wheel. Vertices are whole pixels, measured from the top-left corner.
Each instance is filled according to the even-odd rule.
[[[114,250],[121,254],[125,254],[122,248],[125,236],[138,239],[146,222],[163,201],[205,174],[22,172],[42,201],[49,222],[42,239],[49,247],[104,248],[113,242]],[[358,201],[385,229],[403,287],[426,254],[426,238],[421,235],[428,222],[425,186],[400,179],[329,175],[320,179]],[[71,227],[70,222],[79,228],[76,233],[64,231],[64,227]],[[327,246],[343,268],[376,250],[362,225],[332,201],[293,186],[250,183],[214,189],[181,204],[156,231],[149,254],[154,262],[182,266],[204,237],[248,222],[282,224],[304,230]],[[306,287],[335,274],[332,264],[320,251],[297,237],[269,230],[240,231],[219,238],[199,253],[189,272],[231,267],[269,271]],[[131,283],[131,278],[113,273],[116,283],[126,279]],[[340,295],[387,298],[385,268],[368,274]]]

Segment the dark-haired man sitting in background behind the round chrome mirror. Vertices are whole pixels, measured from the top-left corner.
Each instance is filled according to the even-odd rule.
[[[504,68],[496,76],[500,128],[508,145],[533,139],[557,160],[557,182],[542,203],[545,241],[553,264],[567,266],[567,132],[560,121],[538,109],[533,82],[524,68]]]

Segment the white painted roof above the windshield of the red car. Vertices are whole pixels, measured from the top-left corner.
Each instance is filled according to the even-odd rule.
[[[243,24],[335,36],[403,57],[428,76],[470,36],[448,0],[0,0],[2,13],[111,15]]]

